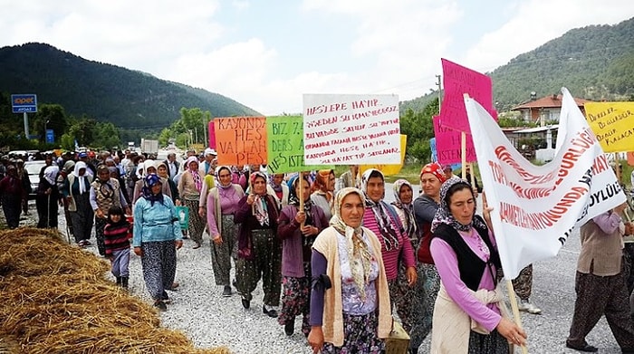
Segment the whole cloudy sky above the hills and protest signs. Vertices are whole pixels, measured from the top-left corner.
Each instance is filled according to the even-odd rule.
[[[572,28],[634,17],[631,4],[0,0],[0,46],[49,43],[274,115],[301,112],[303,93],[390,93],[410,100],[436,88],[440,58],[490,72]]]

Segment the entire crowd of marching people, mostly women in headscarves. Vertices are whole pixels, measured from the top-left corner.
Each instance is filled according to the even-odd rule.
[[[267,174],[263,166],[219,166],[211,148],[187,151],[182,162],[174,153],[157,160],[130,151],[43,158],[37,226],[56,228],[63,213],[80,247],[91,244],[94,230],[99,254],[123,288],[131,244],[161,311],[168,309],[166,291],[178,287],[183,239],[198,249],[207,235],[223,296],[235,288],[250,309],[262,282],[264,314],[287,335],[301,317],[315,352],[380,353],[393,316],[409,333],[410,352],[428,336],[433,352],[445,353],[508,353],[526,341],[505,310],[485,196],[476,215],[483,189],[451,168],[422,167],[417,196],[405,179],[387,190],[373,168],[351,166],[341,177],[331,169]],[[18,227],[29,189],[24,160],[3,157],[0,200],[9,228]],[[623,352],[634,352],[631,254],[624,258],[622,240],[634,226],[621,221],[625,208],[581,227],[569,348],[597,351],[585,336],[605,314]],[[529,265],[514,288],[520,310],[539,314],[530,301],[532,279]]]

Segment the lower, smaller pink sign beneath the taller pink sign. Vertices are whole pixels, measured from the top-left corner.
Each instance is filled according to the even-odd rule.
[[[436,136],[436,149],[438,162],[441,165],[456,164],[462,162],[460,157],[461,132],[440,125],[440,117],[435,116],[434,135]],[[476,162],[476,148],[471,134],[466,134],[466,162]]]

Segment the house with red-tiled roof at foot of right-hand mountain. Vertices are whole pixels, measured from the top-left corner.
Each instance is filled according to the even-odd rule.
[[[583,108],[583,103],[590,100],[575,98],[574,101],[585,116],[586,112]],[[511,110],[519,111],[522,120],[537,123],[543,127],[547,121],[559,122],[559,117],[562,114],[562,95],[553,94],[537,99],[535,92],[531,92],[531,100]]]

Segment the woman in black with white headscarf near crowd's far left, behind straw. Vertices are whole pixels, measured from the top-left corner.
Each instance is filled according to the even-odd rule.
[[[57,165],[44,168],[40,184],[37,186],[35,207],[37,209],[37,227],[57,228],[57,203],[60,199],[60,190],[57,187],[57,175],[60,167]]]

